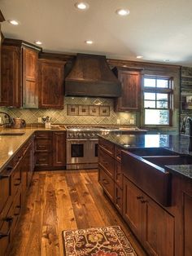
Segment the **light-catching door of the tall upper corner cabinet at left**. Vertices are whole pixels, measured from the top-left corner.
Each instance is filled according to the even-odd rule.
[[[38,52],[23,48],[23,107],[38,108],[37,60]]]

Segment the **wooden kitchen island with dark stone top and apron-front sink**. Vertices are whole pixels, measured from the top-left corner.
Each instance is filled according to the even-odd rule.
[[[192,254],[188,143],[185,135],[99,137],[99,183],[150,255]]]

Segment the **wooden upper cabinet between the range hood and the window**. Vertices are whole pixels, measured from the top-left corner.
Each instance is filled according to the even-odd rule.
[[[113,68],[122,86],[122,95],[116,99],[116,111],[139,111],[141,102],[141,71]]]

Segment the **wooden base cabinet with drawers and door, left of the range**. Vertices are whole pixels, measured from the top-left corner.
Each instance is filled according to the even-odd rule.
[[[37,131],[35,170],[55,170],[66,166],[66,131]]]

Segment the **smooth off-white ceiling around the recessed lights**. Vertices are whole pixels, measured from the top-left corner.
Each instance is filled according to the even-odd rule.
[[[44,51],[85,52],[107,58],[142,61],[170,60],[192,66],[192,0],[85,0],[87,11],[74,7],[77,0],[0,0],[6,20],[6,38],[40,40]],[[125,17],[116,9],[128,8]],[[91,39],[93,45],[86,45]]]

